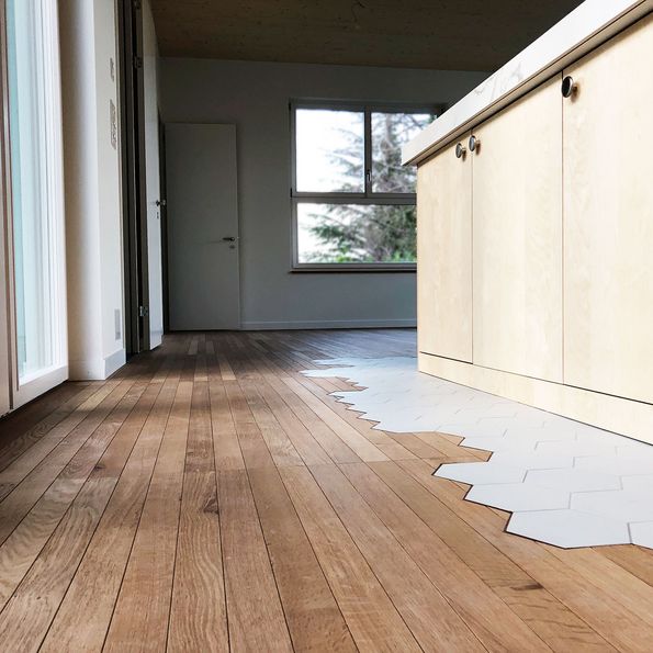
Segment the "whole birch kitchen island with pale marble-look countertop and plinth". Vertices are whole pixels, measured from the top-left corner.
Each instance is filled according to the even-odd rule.
[[[420,370],[646,442],[652,10],[587,0],[404,149]]]

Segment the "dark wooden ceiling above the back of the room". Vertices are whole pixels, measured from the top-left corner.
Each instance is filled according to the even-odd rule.
[[[579,0],[151,0],[161,55],[494,70]]]

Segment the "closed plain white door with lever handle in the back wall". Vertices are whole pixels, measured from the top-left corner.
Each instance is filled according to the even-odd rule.
[[[236,125],[166,125],[172,330],[240,326]]]

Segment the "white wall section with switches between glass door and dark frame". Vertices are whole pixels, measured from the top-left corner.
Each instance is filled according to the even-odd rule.
[[[114,0],[61,0],[59,15],[70,378],[105,379],[125,360]]]

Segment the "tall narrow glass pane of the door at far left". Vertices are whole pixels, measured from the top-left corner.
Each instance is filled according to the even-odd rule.
[[[47,98],[38,0],[7,0],[19,379],[54,364],[47,198]]]

